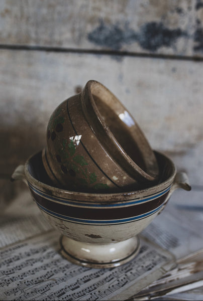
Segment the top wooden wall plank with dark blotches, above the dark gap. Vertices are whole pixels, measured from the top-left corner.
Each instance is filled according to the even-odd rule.
[[[1,0],[0,44],[203,54],[203,1]]]

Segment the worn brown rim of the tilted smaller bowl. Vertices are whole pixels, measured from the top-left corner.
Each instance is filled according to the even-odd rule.
[[[134,142],[139,148],[140,155],[142,157],[142,160],[145,164],[145,170],[142,169],[125,151],[121,143],[117,140],[113,132],[111,131],[110,127],[108,126],[107,122],[104,120],[104,118],[101,116],[101,113],[99,112],[99,109],[96,105],[96,102],[93,98],[93,92],[92,90],[99,86],[99,88],[103,89],[106,93],[111,95],[111,97],[114,99],[114,102],[117,103],[120,107],[123,108],[124,111],[128,113],[128,115],[131,117],[131,119],[134,122],[134,126],[136,128],[137,134],[136,139],[133,138]],[[88,95],[88,102],[84,101],[84,99],[87,99],[86,95]],[[120,158],[120,164],[121,162],[125,162],[125,168],[127,168],[127,173],[131,175],[136,181],[145,181],[145,182],[151,182],[157,179],[158,177],[158,165],[156,162],[156,157],[154,156],[153,150],[144,134],[144,132],[139,127],[138,123],[136,122],[135,118],[132,116],[132,114],[129,112],[129,110],[121,103],[121,101],[112,93],[105,85],[101,84],[100,82],[96,80],[89,80],[85,87],[83,88],[81,92],[81,104],[83,108],[83,113],[85,115],[85,118],[87,119],[90,126],[93,126],[93,123],[91,122],[92,119],[94,119],[94,122],[96,123],[96,126],[93,126],[93,132],[96,132],[96,135],[99,136],[99,131],[97,128],[100,128],[100,130],[103,131],[105,134],[105,137],[108,141],[107,145],[112,149],[115,149],[116,156],[119,156]],[[95,116],[95,118],[92,118],[92,115]],[[103,136],[104,141],[104,136]]]

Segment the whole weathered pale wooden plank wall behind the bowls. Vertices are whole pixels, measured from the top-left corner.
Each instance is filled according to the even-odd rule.
[[[89,79],[203,186],[203,1],[1,0],[0,174],[45,145],[51,112]]]

